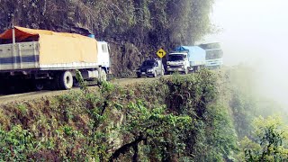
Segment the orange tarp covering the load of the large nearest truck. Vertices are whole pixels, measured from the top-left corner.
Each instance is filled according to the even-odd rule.
[[[12,32],[12,29],[4,31],[0,39],[10,40],[11,43]],[[92,38],[73,33],[15,27],[17,44],[35,38],[39,43],[36,48],[39,51],[34,52],[39,54],[39,67],[75,67],[85,66],[86,63],[91,66],[97,62],[97,41]],[[21,57],[21,52],[14,54],[17,55]]]

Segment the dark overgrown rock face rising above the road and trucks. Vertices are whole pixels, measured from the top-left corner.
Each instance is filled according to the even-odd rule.
[[[34,29],[94,33],[111,44],[112,72],[130,75],[160,47],[191,45],[210,31],[213,0],[0,0],[0,31]],[[13,16],[12,16],[13,15]]]

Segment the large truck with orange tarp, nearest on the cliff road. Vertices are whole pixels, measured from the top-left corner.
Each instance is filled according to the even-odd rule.
[[[85,80],[106,80],[110,73],[108,44],[79,34],[15,26],[0,34],[0,85],[33,84],[70,89],[76,70]],[[25,85],[24,85],[25,86]]]

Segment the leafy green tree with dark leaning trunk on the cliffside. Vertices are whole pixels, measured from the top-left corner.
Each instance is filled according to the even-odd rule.
[[[126,121],[121,128],[122,136],[130,139],[130,142],[116,149],[109,161],[119,158],[121,154],[128,154],[130,148],[133,149],[133,161],[138,161],[140,154],[150,159],[156,158],[157,161],[171,161],[176,153],[184,149],[184,143],[180,140],[181,132],[191,123],[189,116],[166,113],[163,106],[148,109],[141,101],[130,103]],[[148,148],[148,151],[140,152],[140,145]]]

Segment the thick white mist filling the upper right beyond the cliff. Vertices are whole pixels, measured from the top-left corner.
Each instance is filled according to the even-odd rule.
[[[286,6],[286,0],[216,0],[211,21],[220,32],[204,40],[220,41],[225,65],[255,68],[257,93],[288,112]]]

